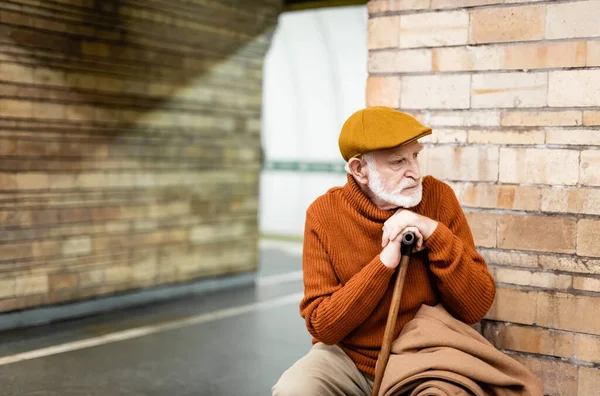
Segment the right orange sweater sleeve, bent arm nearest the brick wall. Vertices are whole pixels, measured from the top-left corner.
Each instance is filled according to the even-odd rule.
[[[449,186],[444,186],[439,210],[438,226],[425,242],[431,271],[446,308],[466,323],[477,323],[494,300],[494,279]]]

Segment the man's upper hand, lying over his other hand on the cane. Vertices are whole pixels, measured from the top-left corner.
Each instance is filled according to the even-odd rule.
[[[429,239],[437,225],[437,221],[429,217],[400,209],[384,223],[381,246],[385,248],[390,242],[400,243],[405,232],[413,231],[417,237],[414,251],[418,252],[423,249],[423,242]]]

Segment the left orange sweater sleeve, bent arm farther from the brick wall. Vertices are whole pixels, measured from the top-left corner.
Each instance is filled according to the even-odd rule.
[[[386,267],[377,255],[342,285],[326,246],[324,233],[307,213],[302,256],[304,298],[300,314],[316,339],[333,345],[367,319],[385,294],[394,270]]]

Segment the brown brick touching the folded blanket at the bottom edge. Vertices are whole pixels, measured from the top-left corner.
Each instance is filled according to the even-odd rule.
[[[577,395],[579,366],[558,359],[535,356],[511,356],[540,379],[544,385],[544,395]]]

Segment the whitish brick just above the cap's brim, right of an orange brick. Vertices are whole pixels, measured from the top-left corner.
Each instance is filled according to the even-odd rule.
[[[406,76],[402,78],[400,105],[404,109],[469,108],[470,77]]]

